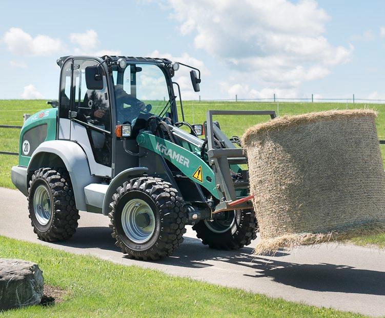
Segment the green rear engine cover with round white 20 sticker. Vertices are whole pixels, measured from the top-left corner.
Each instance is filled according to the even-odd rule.
[[[57,108],[34,113],[24,123],[19,136],[19,166],[27,167],[39,144],[56,139]]]

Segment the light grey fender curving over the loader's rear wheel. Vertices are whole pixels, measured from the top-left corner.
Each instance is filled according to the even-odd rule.
[[[50,154],[53,154],[53,156],[50,156]],[[91,183],[97,183],[98,178],[91,175],[87,156],[82,147],[75,142],[52,140],[40,144],[32,153],[27,172],[33,173],[36,169],[42,167],[42,163],[49,163],[51,161],[50,157],[55,156],[63,161],[70,175],[76,208],[86,211],[84,188]],[[57,162],[57,159],[55,161]]]

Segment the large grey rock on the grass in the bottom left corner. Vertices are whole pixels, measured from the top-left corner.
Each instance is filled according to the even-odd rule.
[[[0,259],[0,310],[39,304],[43,285],[37,264]]]

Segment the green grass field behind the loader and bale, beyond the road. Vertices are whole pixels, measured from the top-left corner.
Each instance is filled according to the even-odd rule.
[[[0,100],[0,125],[23,124],[23,114],[33,114],[48,106],[45,100]],[[191,124],[201,124],[206,120],[207,110],[275,110],[279,116],[302,114],[329,109],[371,108],[378,111],[376,127],[379,139],[385,140],[385,104],[352,103],[257,103],[257,102],[207,102],[186,101],[184,112]],[[180,108],[179,108],[180,110]],[[180,115],[179,115],[180,117]],[[269,120],[269,116],[216,116],[221,129],[228,135],[241,136],[250,126]],[[0,128],[0,150],[18,152],[17,129]],[[385,146],[381,146],[382,158],[385,158]],[[17,157],[0,154],[0,187],[14,188],[10,180],[11,167],[17,164]],[[385,237],[374,235],[359,244],[385,242]],[[356,242],[358,243],[358,242]],[[378,243],[375,243],[379,245]],[[384,243],[382,243],[384,245]]]

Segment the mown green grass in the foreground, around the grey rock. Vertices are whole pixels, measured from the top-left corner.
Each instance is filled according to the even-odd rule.
[[[46,284],[67,291],[54,306],[4,311],[0,317],[362,317],[2,236],[0,257],[39,264]]]

